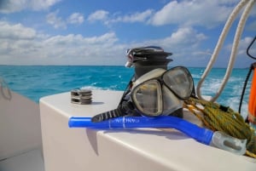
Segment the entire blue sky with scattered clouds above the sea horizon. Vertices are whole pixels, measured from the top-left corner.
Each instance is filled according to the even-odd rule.
[[[239,0],[2,0],[0,64],[124,65],[125,50],[155,45],[172,52],[172,65],[206,66]],[[236,67],[253,60],[254,4],[241,35]],[[237,17],[216,67],[227,66]],[[252,54],[256,54],[253,46]]]

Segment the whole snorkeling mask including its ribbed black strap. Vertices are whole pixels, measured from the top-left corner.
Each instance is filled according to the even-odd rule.
[[[188,99],[193,89],[193,78],[187,68],[154,69],[129,83],[117,109],[98,114],[91,121],[96,123],[123,116],[172,115],[172,112],[182,109],[182,100]]]

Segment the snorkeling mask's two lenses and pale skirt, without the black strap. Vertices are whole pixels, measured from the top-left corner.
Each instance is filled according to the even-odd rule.
[[[193,87],[187,68],[158,68],[137,79],[131,88],[131,101],[141,115],[166,116],[183,107],[182,100],[189,98]]]

